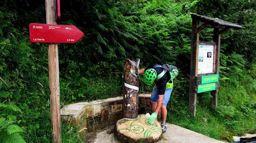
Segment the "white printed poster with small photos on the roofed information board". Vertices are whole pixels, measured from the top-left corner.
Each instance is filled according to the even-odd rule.
[[[214,45],[199,45],[198,74],[213,72]]]

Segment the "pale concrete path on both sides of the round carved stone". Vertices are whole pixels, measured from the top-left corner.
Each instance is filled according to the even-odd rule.
[[[163,133],[162,139],[157,143],[224,143],[171,123],[166,124],[166,133]],[[93,143],[119,143],[113,138],[113,133],[108,133],[109,130],[97,133]]]

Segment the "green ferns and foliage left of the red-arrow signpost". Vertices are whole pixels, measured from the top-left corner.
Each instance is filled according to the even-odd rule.
[[[44,13],[40,10],[44,8],[30,1],[0,3],[0,117],[9,122],[1,125],[1,142],[34,142],[41,133],[51,131],[47,126],[47,122],[50,125],[49,116],[45,119],[41,116],[47,112],[45,109],[50,111],[45,106],[49,94],[45,88],[49,85],[47,47],[32,44],[26,27],[31,21],[31,13],[38,14],[34,18],[39,19]],[[40,122],[48,129],[39,130]]]

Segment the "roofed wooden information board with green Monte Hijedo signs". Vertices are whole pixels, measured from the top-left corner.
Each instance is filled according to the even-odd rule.
[[[241,25],[226,22],[218,18],[191,14],[191,62],[190,62],[190,87],[189,111],[196,116],[196,96],[198,93],[210,91],[211,104],[217,108],[219,89],[220,65],[220,35],[228,29],[242,29]],[[200,25],[200,22],[204,24]],[[199,42],[199,32],[212,25],[213,42]],[[224,26],[221,29],[220,26]]]

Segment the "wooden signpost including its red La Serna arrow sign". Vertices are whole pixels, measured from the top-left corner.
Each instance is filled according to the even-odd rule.
[[[75,43],[84,33],[73,25],[57,25],[60,20],[60,0],[46,0],[46,24],[30,24],[30,41],[48,43],[50,110],[52,142],[61,143],[60,80],[58,43]]]

